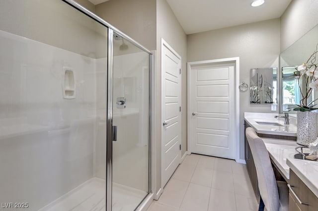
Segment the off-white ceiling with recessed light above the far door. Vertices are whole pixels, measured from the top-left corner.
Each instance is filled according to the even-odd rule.
[[[98,4],[107,0],[89,0]],[[236,26],[280,17],[291,0],[167,0],[186,34]]]

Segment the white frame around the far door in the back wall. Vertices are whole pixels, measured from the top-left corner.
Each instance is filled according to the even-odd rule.
[[[191,116],[191,99],[190,99],[190,93],[191,93],[191,82],[190,82],[190,72],[191,72],[191,67],[192,66],[196,66],[196,65],[200,65],[200,64],[214,64],[214,63],[220,63],[220,62],[234,62],[235,63],[235,74],[234,74],[234,81],[235,81],[235,86],[234,87],[238,87],[239,86],[239,57],[232,57],[232,58],[225,58],[225,59],[213,59],[213,60],[204,60],[204,61],[196,61],[196,62],[188,62],[187,63],[187,115],[188,115],[188,119],[189,116]],[[239,152],[240,152],[240,144],[239,144],[239,89],[235,89],[235,105],[236,109],[235,109],[235,117],[236,117],[236,122],[235,125],[236,127],[235,129],[235,148],[236,148],[236,162],[240,163],[240,158],[239,158]],[[192,149],[191,149],[191,125],[190,125],[190,121],[188,120],[187,122],[187,136],[188,136],[188,140],[187,140],[187,145],[188,145],[188,154],[191,154]]]

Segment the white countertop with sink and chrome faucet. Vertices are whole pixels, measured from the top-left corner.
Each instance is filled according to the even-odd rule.
[[[294,116],[289,116],[290,124],[284,125],[284,118],[276,119],[274,117],[276,115],[279,115],[279,113],[244,112],[244,119],[257,133],[297,136],[296,118]],[[273,122],[281,124],[282,126],[263,125],[258,124],[257,122]]]

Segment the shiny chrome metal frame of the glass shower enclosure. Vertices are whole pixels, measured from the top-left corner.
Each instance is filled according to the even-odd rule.
[[[136,208],[136,210],[145,208],[145,201],[146,199],[152,199],[153,196],[150,195],[152,193],[152,125],[151,125],[151,112],[152,112],[152,104],[151,104],[151,94],[152,94],[152,71],[151,71],[151,57],[152,52],[145,48],[140,43],[133,40],[131,37],[127,36],[120,30],[118,30],[116,27],[112,26],[96,14],[92,13],[91,11],[87,10],[85,7],[80,5],[74,0],[62,0],[69,5],[73,6],[74,8],[78,9],[80,12],[86,14],[90,18],[94,19],[95,21],[99,22],[100,24],[106,26],[108,28],[108,53],[107,53],[107,139],[106,141],[106,211],[112,210],[112,142],[113,142],[113,113],[112,113],[112,107],[113,107],[113,33],[116,32],[123,38],[127,39],[129,42],[134,44],[136,47],[140,48],[141,50],[147,52],[149,54],[149,172],[148,172],[148,195],[145,197],[143,202]]]

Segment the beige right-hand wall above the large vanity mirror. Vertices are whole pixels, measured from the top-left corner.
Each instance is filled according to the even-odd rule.
[[[318,24],[317,0],[292,0],[281,16],[281,52]]]

